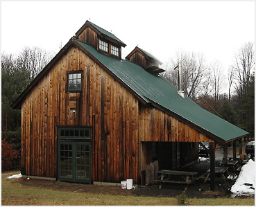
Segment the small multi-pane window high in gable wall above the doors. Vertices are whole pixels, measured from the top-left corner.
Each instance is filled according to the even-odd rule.
[[[82,72],[67,73],[67,91],[82,91]]]

